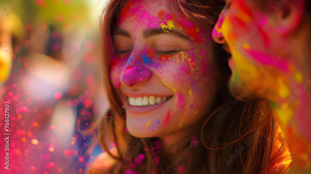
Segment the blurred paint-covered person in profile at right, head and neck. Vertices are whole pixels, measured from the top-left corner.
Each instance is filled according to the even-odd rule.
[[[296,173],[311,171],[310,3],[226,1],[213,30],[232,54],[230,90],[267,98],[288,142]]]

